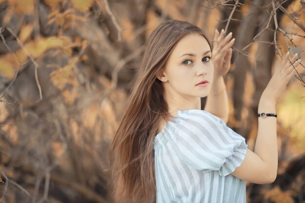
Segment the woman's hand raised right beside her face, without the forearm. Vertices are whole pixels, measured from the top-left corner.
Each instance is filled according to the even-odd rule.
[[[232,46],[235,38],[232,38],[232,33],[225,37],[224,29],[221,33],[215,30],[212,50],[212,61],[214,65],[214,78],[224,76],[229,72],[231,66]],[[230,40],[231,39],[231,40]]]

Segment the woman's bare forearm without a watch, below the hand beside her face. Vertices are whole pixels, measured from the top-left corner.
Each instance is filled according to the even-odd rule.
[[[221,118],[225,123],[229,119],[228,92],[224,78],[218,77],[213,80],[210,94],[207,97],[205,111]]]

